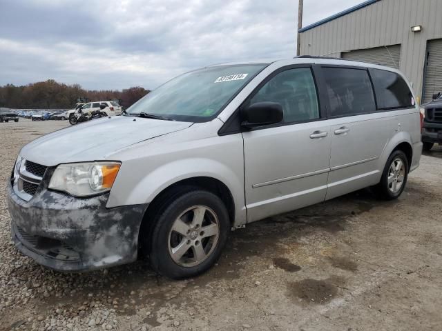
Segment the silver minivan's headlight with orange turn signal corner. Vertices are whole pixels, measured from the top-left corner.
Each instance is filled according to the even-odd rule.
[[[75,197],[88,197],[111,190],[121,163],[88,162],[61,164],[50,179],[49,188]]]

